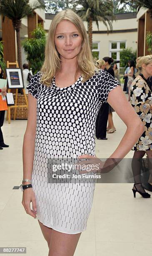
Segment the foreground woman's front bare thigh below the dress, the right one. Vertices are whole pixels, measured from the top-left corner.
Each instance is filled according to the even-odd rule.
[[[73,256],[81,233],[65,234],[52,230],[48,256]]]

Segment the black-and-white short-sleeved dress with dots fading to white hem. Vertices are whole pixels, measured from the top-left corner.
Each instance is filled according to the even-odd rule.
[[[40,82],[37,72],[27,90],[37,99],[37,128],[32,170],[32,187],[37,204],[37,220],[62,233],[86,230],[92,207],[95,182],[48,183],[49,158],[95,156],[95,120],[108,93],[119,86],[106,71],[96,72],[82,83],[82,76],[64,88],[55,77],[50,87]]]

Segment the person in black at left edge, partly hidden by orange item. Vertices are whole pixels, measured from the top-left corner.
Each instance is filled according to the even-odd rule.
[[[3,79],[3,71],[2,71],[1,65],[0,65],[0,79]],[[6,96],[6,90],[7,90],[6,87],[3,87],[2,89],[0,89],[0,93],[2,93],[2,96]],[[6,145],[4,143],[4,138],[1,130],[1,127],[4,123],[4,116],[5,116],[5,110],[0,111],[0,150],[2,150],[3,148],[9,147],[9,145]]]

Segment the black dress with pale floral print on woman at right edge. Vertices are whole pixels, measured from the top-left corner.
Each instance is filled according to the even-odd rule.
[[[132,82],[130,103],[145,126],[145,131],[132,150],[152,150],[152,91],[148,84],[139,76]]]

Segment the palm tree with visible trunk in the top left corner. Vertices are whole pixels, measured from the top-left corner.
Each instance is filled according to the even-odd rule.
[[[20,27],[22,18],[32,15],[37,8],[45,9],[42,0],[35,1],[30,5],[30,0],[0,0],[0,14],[5,18],[12,20],[12,25],[16,31],[18,64],[22,69],[21,43],[20,43]]]

